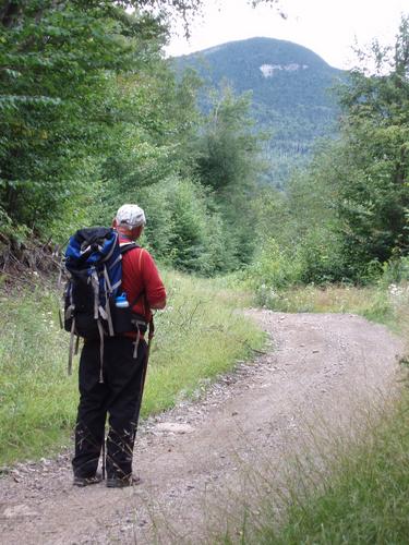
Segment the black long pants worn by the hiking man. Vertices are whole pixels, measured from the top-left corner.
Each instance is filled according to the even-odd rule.
[[[75,428],[74,474],[95,475],[107,437],[107,476],[123,479],[132,473],[132,452],[140,415],[146,342],[141,340],[137,358],[127,337],[105,339],[104,383],[99,383],[99,340],[86,341],[80,360],[80,404]]]

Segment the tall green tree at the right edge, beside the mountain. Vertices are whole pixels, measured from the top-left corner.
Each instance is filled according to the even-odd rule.
[[[344,146],[337,178],[349,274],[409,251],[409,19],[394,50],[372,48],[376,73],[351,74],[341,92]],[[337,174],[335,174],[337,175]]]

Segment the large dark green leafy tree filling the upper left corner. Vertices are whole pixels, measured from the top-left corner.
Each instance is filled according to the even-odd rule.
[[[97,179],[129,116],[118,77],[160,55],[165,28],[115,2],[5,2],[0,21],[0,210],[41,231]]]

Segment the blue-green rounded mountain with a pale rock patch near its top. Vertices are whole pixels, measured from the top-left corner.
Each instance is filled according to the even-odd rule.
[[[212,87],[227,81],[237,94],[252,92],[256,126],[272,134],[269,181],[277,185],[306,161],[315,138],[336,131],[339,110],[330,88],[346,72],[305,47],[251,38],[178,57],[176,64],[178,72],[194,68]],[[206,109],[203,97],[201,105]]]

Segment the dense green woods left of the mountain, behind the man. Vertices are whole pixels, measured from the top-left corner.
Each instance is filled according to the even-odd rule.
[[[33,237],[110,223],[133,201],[165,264],[213,275],[250,261],[260,160],[245,97],[221,89],[201,116],[199,78],[176,80],[148,12],[22,2],[3,21],[2,261]]]

